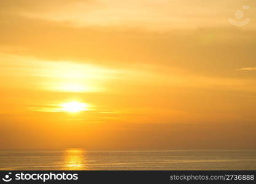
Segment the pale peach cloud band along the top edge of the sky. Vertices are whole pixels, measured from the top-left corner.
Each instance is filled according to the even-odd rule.
[[[176,28],[201,28],[204,26],[231,26],[227,18],[244,2],[226,0],[202,2],[194,0],[168,1],[118,1],[118,0],[1,0],[1,13],[38,18],[68,26],[123,26],[168,31]],[[249,0],[247,17],[255,17],[255,2]],[[235,5],[235,6],[234,6]],[[251,14],[250,14],[251,12]],[[248,15],[249,13],[249,15]],[[254,24],[247,28],[255,29]]]

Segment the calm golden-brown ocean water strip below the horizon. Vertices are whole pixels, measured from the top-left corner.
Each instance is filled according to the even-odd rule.
[[[0,170],[256,170],[256,150],[0,150]]]

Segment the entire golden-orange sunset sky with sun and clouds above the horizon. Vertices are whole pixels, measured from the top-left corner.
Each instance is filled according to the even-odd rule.
[[[255,21],[254,0],[1,0],[0,149],[256,149]]]

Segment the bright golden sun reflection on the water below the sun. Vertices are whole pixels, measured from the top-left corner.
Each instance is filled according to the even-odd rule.
[[[85,151],[69,149],[64,152],[64,170],[85,170]]]

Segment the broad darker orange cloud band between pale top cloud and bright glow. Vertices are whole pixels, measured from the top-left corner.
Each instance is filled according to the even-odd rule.
[[[226,77],[230,75],[227,71],[231,71],[230,60],[232,69],[255,63],[254,31],[221,27],[157,33],[122,26],[73,28],[12,15],[0,18],[0,27],[2,51],[40,60],[122,68],[157,64],[195,73],[215,75],[217,72]]]

